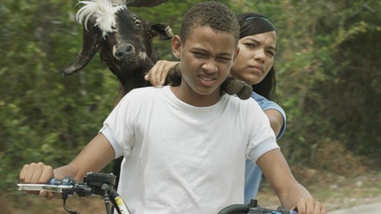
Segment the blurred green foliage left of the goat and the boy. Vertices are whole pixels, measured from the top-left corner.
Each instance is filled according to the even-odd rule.
[[[118,84],[99,60],[61,74],[80,49],[73,1],[4,1],[0,10],[0,187],[14,189],[8,184],[23,163],[58,166],[80,151],[112,108]]]

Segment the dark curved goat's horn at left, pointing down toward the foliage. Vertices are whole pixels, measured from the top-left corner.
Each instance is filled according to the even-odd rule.
[[[102,34],[100,32],[95,32],[99,30],[92,26],[88,26],[87,29],[88,30],[85,30],[85,27],[83,27],[82,49],[80,49],[78,56],[75,58],[75,61],[70,65],[70,67],[63,70],[63,75],[65,76],[72,75],[78,70],[84,68],[98,51],[97,44],[99,43],[99,39],[101,39]]]

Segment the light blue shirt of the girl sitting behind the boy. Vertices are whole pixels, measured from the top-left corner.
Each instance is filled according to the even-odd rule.
[[[283,108],[277,103],[269,101],[268,99],[265,99],[265,97],[260,96],[255,92],[251,94],[251,98],[257,101],[257,103],[260,105],[260,108],[262,108],[262,111],[274,109],[279,111],[279,113],[283,116],[283,125],[277,136],[277,139],[281,138],[284,134],[284,131],[286,130],[286,113],[284,113]],[[245,203],[250,203],[250,199],[255,199],[257,196],[261,177],[262,172],[260,171],[260,168],[258,168],[258,165],[255,165],[251,160],[246,160]]]

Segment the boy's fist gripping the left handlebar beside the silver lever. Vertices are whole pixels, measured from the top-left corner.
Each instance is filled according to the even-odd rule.
[[[21,184],[47,184],[54,177],[53,168],[44,163],[25,164],[20,172],[19,182]],[[49,191],[27,191],[28,194],[35,194],[52,199],[54,194]]]

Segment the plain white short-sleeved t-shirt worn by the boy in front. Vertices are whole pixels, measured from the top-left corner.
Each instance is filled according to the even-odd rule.
[[[243,202],[245,160],[279,149],[253,99],[195,107],[170,87],[134,89],[100,130],[124,155],[118,192],[132,213],[218,213]]]

